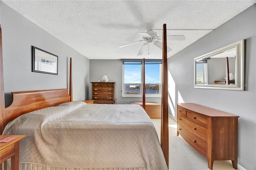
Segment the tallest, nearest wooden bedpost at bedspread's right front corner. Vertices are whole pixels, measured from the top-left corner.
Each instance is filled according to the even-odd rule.
[[[162,110],[161,110],[161,147],[166,164],[169,167],[169,128],[168,128],[168,69],[166,24],[163,26],[163,75],[162,75]]]

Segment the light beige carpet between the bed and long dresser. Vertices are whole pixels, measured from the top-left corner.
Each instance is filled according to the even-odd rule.
[[[160,140],[161,119],[151,119]],[[234,170],[231,162],[218,160],[213,170]],[[180,135],[177,136],[177,123],[169,117],[169,170],[209,170],[207,158],[197,152]]]

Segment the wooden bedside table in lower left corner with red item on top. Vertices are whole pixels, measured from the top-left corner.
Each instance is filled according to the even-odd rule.
[[[8,138],[8,137],[16,137],[15,139],[6,142],[0,143],[0,165],[4,162],[4,170],[7,169],[7,160],[11,158],[11,170],[19,170],[20,169],[20,140],[25,138],[24,135],[0,135],[0,140]],[[2,168],[1,168],[2,169]]]

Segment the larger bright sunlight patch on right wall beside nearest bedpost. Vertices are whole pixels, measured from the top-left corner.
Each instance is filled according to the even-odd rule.
[[[172,111],[172,116],[175,117],[175,82],[172,78],[170,71],[168,70],[168,103]]]

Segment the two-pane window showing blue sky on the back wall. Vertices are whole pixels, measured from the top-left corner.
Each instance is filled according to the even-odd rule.
[[[142,97],[143,60],[122,59],[123,64],[123,97]],[[161,97],[162,91],[162,59],[145,60],[145,92],[146,97]]]

